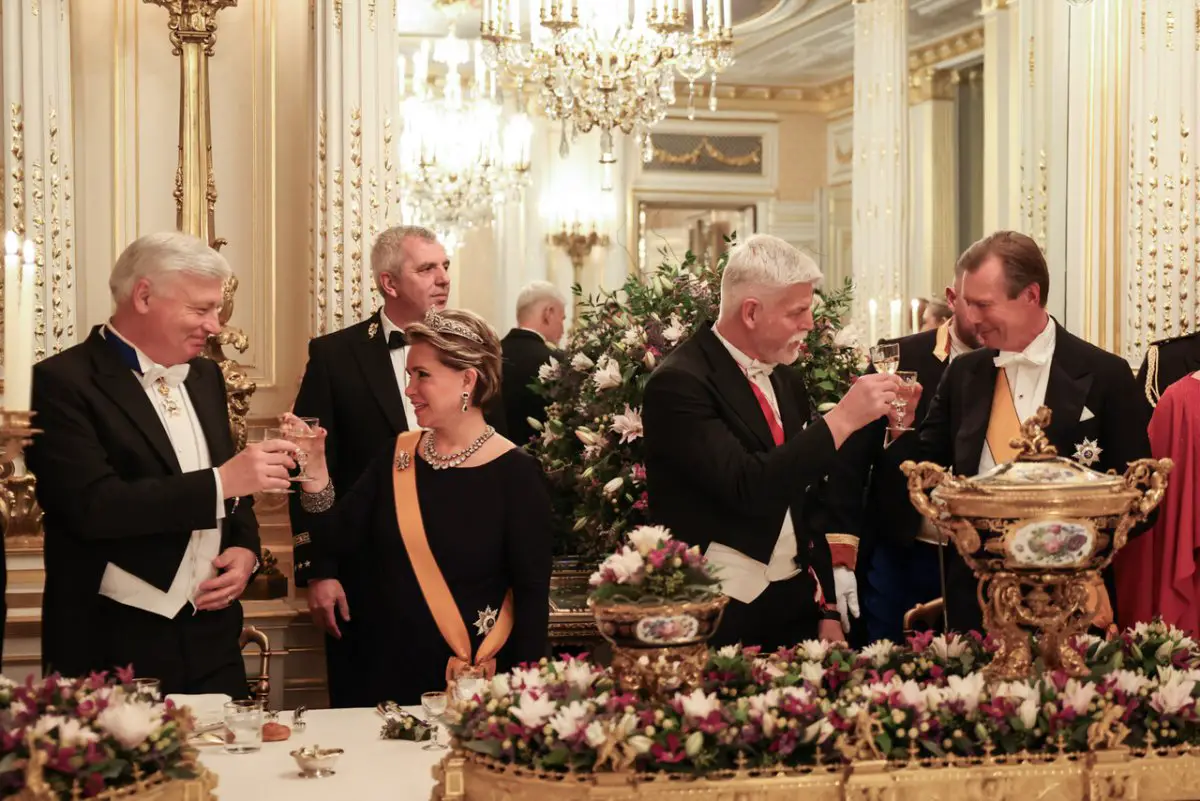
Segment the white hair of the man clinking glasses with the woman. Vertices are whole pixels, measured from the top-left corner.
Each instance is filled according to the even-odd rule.
[[[226,258],[204,240],[181,231],[163,231],[140,236],[125,248],[108,276],[108,290],[113,302],[124,303],[133,295],[138,281],[146,278],[154,283],[180,272],[222,282],[233,277]]]

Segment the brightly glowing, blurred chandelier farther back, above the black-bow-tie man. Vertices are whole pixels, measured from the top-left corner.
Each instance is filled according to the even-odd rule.
[[[520,110],[505,114],[482,43],[457,38],[460,8],[444,11],[450,32],[421,41],[407,96],[407,62],[400,56],[400,171],[406,216],[434,228],[452,247],[467,229],[491,224],[496,206],[528,185],[533,124]],[[440,88],[433,85],[431,64],[445,67]],[[460,68],[468,65],[474,80],[464,89]]]

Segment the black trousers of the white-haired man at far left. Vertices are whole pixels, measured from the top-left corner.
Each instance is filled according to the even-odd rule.
[[[173,619],[96,596],[97,627],[89,670],[133,666],[133,675],[157,679],[162,693],[224,693],[250,698],[238,638],[241,604],[194,612],[186,604]]]

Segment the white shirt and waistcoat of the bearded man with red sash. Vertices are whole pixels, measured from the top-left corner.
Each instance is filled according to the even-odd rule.
[[[774,366],[763,365],[746,356],[722,337],[715,326],[713,333],[730,351],[733,361],[738,363],[746,378],[762,391],[767,404],[775,415],[775,422],[782,429],[784,422],[779,414],[779,401],[775,398],[775,387],[770,384],[770,373]],[[750,603],[762,595],[772,582],[782,582],[800,572],[796,567],[796,526],[792,524],[792,511],[787,510],[784,514],[784,525],[779,530],[779,540],[775,541],[775,549],[770,553],[770,562],[763,565],[757,559],[751,559],[740,550],[720,542],[709,544],[704,555],[721,571],[721,591],[742,603]]]

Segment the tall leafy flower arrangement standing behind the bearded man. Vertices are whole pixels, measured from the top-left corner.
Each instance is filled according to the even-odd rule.
[[[631,276],[617,291],[580,303],[562,359],[539,373],[547,420],[532,447],[557,492],[559,555],[592,564],[629,529],[649,522],[642,439],[642,396],[654,368],[701,325],[716,319],[721,272],[692,253],[679,264]],[[851,285],[823,295],[797,369],[815,410],[845,395],[866,368],[857,336],[842,327]]]

